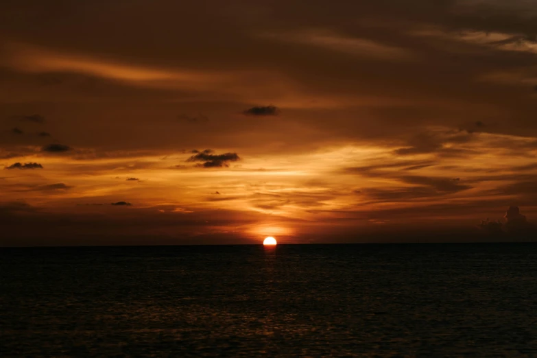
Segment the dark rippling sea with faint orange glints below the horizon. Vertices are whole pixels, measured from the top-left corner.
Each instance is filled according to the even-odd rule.
[[[537,244],[0,249],[1,357],[537,357]]]

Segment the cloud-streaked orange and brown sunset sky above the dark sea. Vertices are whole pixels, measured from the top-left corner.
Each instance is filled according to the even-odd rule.
[[[536,112],[534,0],[3,0],[0,245],[531,222]]]

